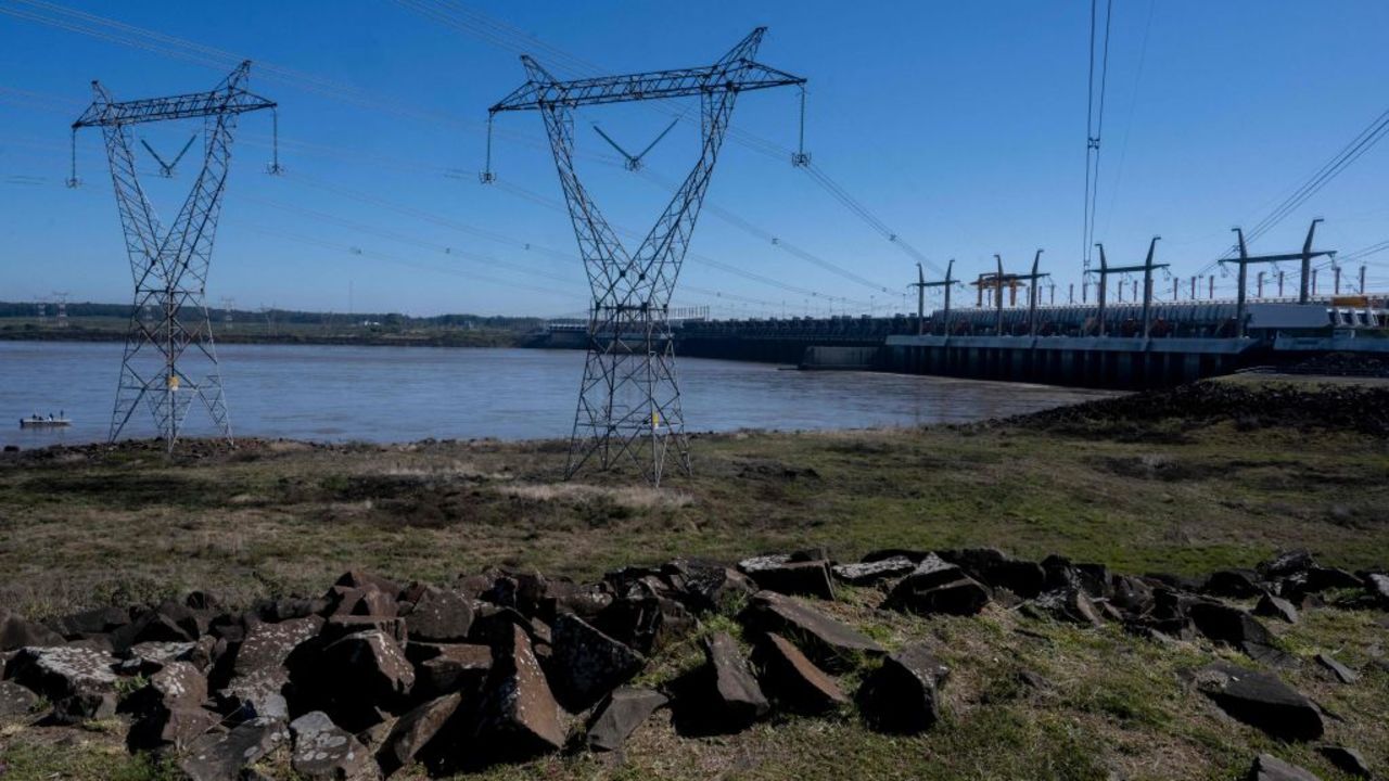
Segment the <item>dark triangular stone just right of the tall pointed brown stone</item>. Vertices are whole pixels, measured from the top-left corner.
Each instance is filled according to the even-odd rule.
[[[568,613],[554,620],[551,648],[554,693],[571,712],[586,710],[646,667],[642,655]]]

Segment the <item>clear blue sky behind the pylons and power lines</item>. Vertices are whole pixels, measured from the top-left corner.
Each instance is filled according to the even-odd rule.
[[[407,6],[446,8],[446,18]],[[1232,225],[1261,218],[1389,106],[1386,3],[1114,6],[1096,229],[1113,260],[1142,260],[1147,239],[1161,233],[1160,260],[1172,263],[1174,274],[1197,271],[1224,252]],[[990,270],[993,253],[1022,270],[1045,247],[1043,267],[1063,290],[1078,279],[1085,0],[465,7],[501,28],[483,28],[479,17],[449,7],[433,0],[65,0],[61,7],[0,0],[0,300],[53,290],[74,300],[128,300],[129,268],[100,136],[79,136],[85,186],[68,190],[67,128],[90,101],[93,78],[117,99],[211,88],[229,63],[206,50],[176,56],[193,51],[192,43],[257,63],[251,89],[281,103],[281,161],[290,171],[283,178],[264,174],[269,117],[244,117],[210,303],[232,296],[242,309],[344,311],[350,289],[357,311],[576,313],[588,292],[568,218],[553,208],[561,195],[540,117],[500,117],[493,165],[506,186],[483,188],[475,179],[486,108],[525,79],[517,50],[575,75],[525,36],[625,72],[711,63],[757,25],[770,26],[758,60],[810,79],[806,133],[814,161],[892,231],[942,265],[957,258],[964,277]],[[97,35],[15,15],[71,24],[74,17],[56,8],[101,17],[82,22]],[[140,46],[110,40],[133,38],[103,19],[172,39],[158,44],[163,53],[149,39],[139,39]],[[793,89],[745,94],[733,126],[790,147],[796,107]],[[585,181],[599,206],[611,222],[644,232],[668,190],[611,165],[611,150],[589,128],[593,121],[639,149],[669,120],[643,107],[578,115]],[[192,132],[142,126],[138,138],[168,157]],[[650,154],[647,170],[682,178],[696,154],[696,133],[682,124]],[[178,178],[151,185],[165,218],[194,168],[194,160],[185,160]],[[1318,245],[1343,253],[1389,239],[1386,174],[1389,145],[1370,151],[1254,249],[1299,246],[1314,215],[1326,218]],[[879,311],[885,300],[903,309],[904,285],[915,275],[911,258],[788,160],[731,139],[710,204],[754,231],[706,211],[693,253],[821,296],[690,261],[676,306],[779,314],[785,302],[788,314],[807,306],[824,313],[826,297],[838,296],[863,302],[850,309],[870,297]],[[892,292],[815,267],[767,235]],[[1371,267],[1370,277],[1389,283],[1389,271]],[[1228,279],[1220,282],[1229,288]]]

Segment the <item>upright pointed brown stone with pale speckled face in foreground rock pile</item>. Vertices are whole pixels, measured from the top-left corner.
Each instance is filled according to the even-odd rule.
[[[478,742],[497,757],[522,759],[564,746],[560,707],[544,680],[531,638],[521,627],[493,648]]]

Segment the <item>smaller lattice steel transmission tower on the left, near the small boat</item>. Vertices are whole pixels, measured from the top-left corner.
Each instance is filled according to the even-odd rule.
[[[111,411],[113,442],[143,402],[172,452],[194,397],[207,407],[221,435],[232,439],[204,289],[236,118],[275,108],[275,103],[246,90],[249,72],[246,61],[210,92],[122,103],[92,82],[92,106],[72,122],[72,186],[78,185],[76,133],[101,128],[135,281],[135,306]],[[203,170],[174,224],[164,228],[135,170],[131,125],[172,120],[204,121]],[[142,317],[149,310],[156,311],[153,320]]]

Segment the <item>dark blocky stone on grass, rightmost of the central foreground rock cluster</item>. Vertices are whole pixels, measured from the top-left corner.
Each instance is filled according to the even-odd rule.
[[[918,734],[940,720],[938,687],[949,670],[924,645],[910,645],[864,678],[858,707],[882,732]]]

